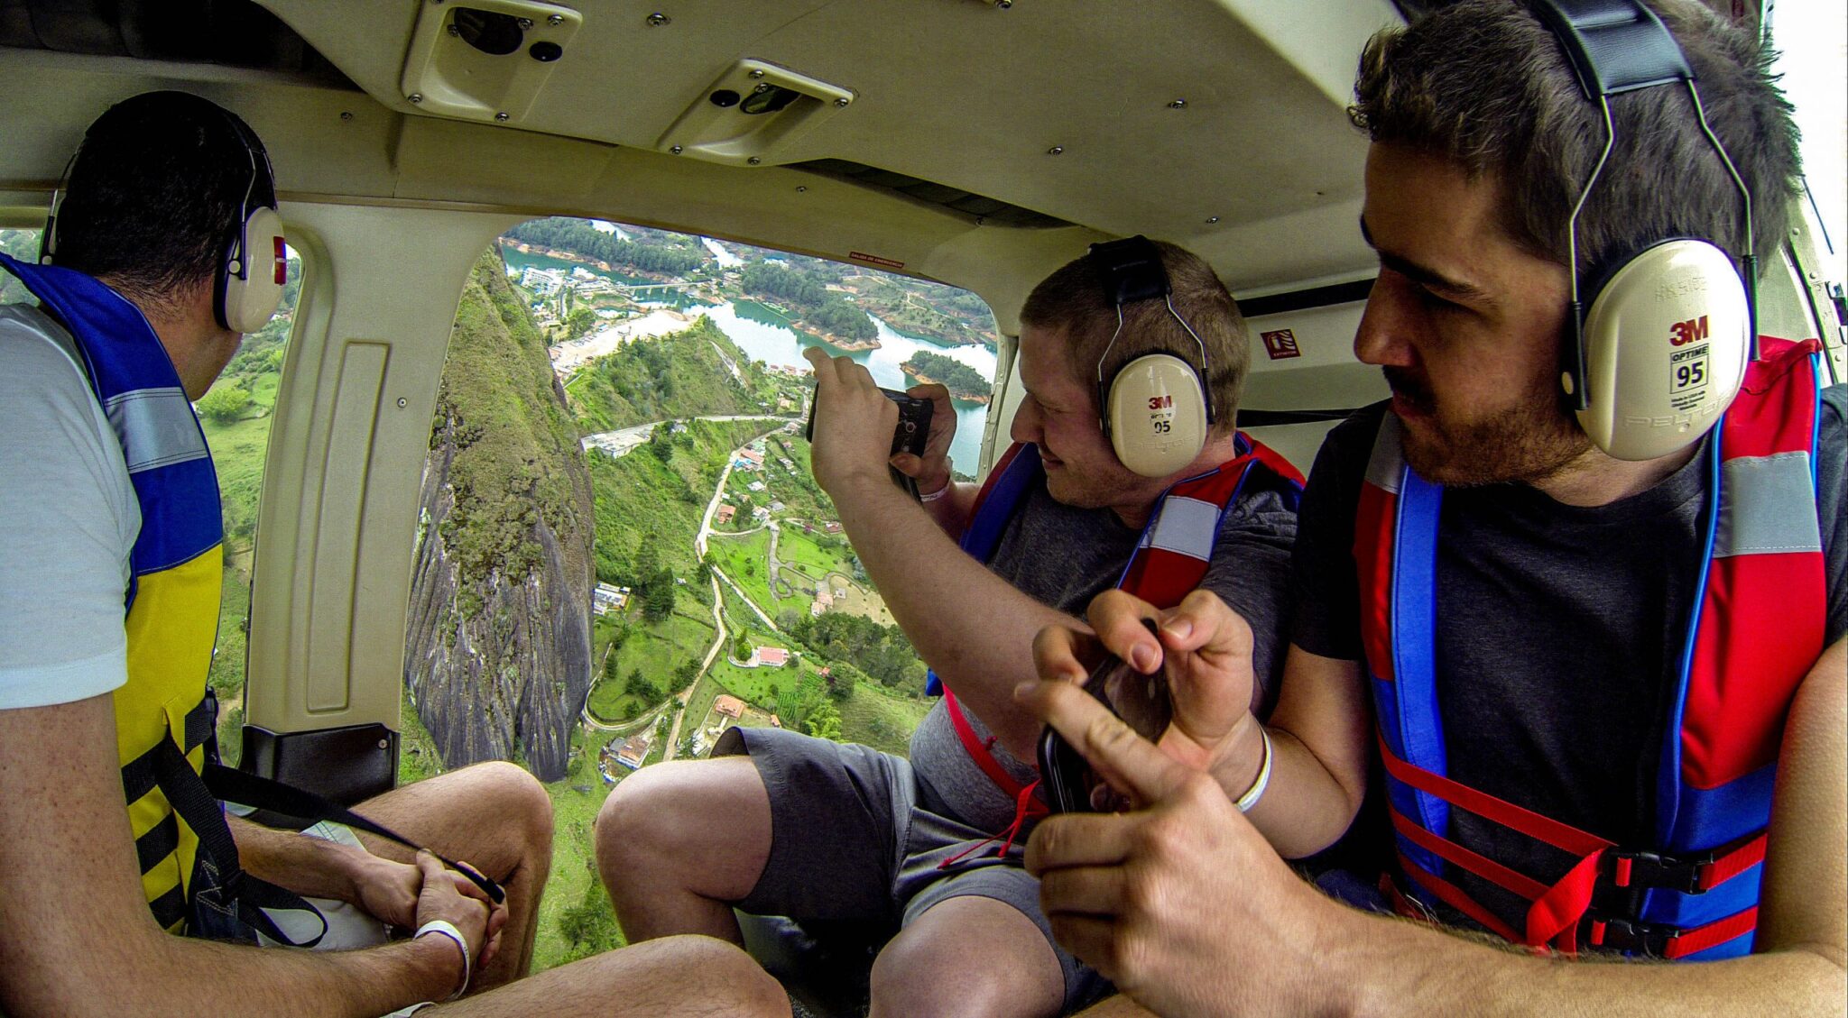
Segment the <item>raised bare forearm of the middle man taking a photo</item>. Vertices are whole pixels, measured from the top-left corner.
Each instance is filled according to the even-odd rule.
[[[883,477],[859,479],[832,495],[898,628],[1003,746],[1031,757],[1040,724],[1013,702],[1013,689],[1035,678],[1033,634],[1074,619],[965,554]]]

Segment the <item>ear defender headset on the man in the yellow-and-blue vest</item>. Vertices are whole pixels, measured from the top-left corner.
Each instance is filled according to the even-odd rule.
[[[213,318],[222,329],[233,333],[262,329],[275,316],[277,305],[283,303],[283,283],[288,279],[283,216],[275,211],[275,176],[262,142],[235,113],[188,92],[146,92],[126,102],[172,103],[174,113],[179,113],[179,107],[211,109],[213,113],[207,116],[222,116],[231,127],[231,137],[237,139],[249,161],[249,181],[244,185],[237,225],[225,238],[220,270],[213,279]],[[89,140],[89,133],[83,139]],[[57,255],[57,212],[63,205],[61,198],[68,196],[70,190],[70,168],[81,153],[83,146],[79,144],[70,163],[65,164],[65,179],[52,194],[52,214],[46,216],[39,240],[39,264],[52,264]]]

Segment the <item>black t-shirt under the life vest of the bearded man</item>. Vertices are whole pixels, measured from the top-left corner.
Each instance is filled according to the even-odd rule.
[[[1828,643],[1848,628],[1848,388],[1824,392],[1817,453]],[[1384,405],[1329,432],[1303,495],[1292,641],[1362,660],[1355,512]],[[1654,774],[1693,608],[1702,458],[1606,506],[1525,484],[1449,490],[1438,523],[1438,704],[1451,778],[1619,844],[1652,839]],[[1453,809],[1451,837],[1545,883],[1571,863]],[[1377,857],[1390,859],[1386,831]],[[1462,874],[1521,927],[1525,903]],[[1449,915],[1449,920],[1458,916]]]

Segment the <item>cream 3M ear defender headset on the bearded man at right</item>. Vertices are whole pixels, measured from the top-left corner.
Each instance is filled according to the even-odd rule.
[[[1573,305],[1560,388],[1576,403],[1578,425],[1611,456],[1667,456],[1719,421],[1739,394],[1746,358],[1757,358],[1752,196],[1708,127],[1687,57],[1654,11],[1639,0],[1536,0],[1534,13],[1558,37],[1580,89],[1604,116],[1604,151],[1567,222]],[[1687,87],[1700,131],[1739,188],[1743,273],[1711,240],[1669,236],[1591,286],[1587,312],[1578,279],[1578,212],[1615,142],[1610,96],[1674,83]]]

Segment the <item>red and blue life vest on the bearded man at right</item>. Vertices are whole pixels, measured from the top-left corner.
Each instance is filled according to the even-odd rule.
[[[1445,776],[1436,697],[1436,543],[1443,488],[1380,425],[1360,490],[1360,630],[1386,767],[1401,911],[1430,896],[1530,948],[1580,946],[1665,959],[1750,953],[1778,743],[1798,684],[1822,654],[1828,597],[1817,523],[1815,340],[1763,338],[1763,358],[1702,451],[1709,512],[1700,588],[1656,763],[1654,839],[1611,841]],[[1541,704],[1538,709],[1545,709]],[[1449,811],[1552,844],[1578,861],[1554,883],[1449,841]],[[1502,922],[1451,878],[1464,870],[1532,902]]]

